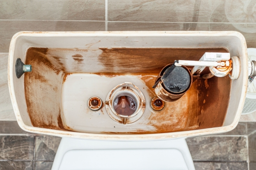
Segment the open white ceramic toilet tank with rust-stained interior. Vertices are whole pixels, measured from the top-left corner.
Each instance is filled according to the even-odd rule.
[[[205,52],[238,56],[239,78],[197,79],[185,95],[151,108],[155,78],[175,60]],[[17,58],[32,72],[15,74]],[[18,32],[9,49],[8,83],[19,126],[31,133],[100,140],[160,140],[225,133],[239,122],[248,79],[247,46],[239,32]],[[141,117],[113,121],[107,96],[129,82],[145,97]],[[102,99],[99,110],[88,100]]]

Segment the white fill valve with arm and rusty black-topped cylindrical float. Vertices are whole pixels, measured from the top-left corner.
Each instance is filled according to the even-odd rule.
[[[256,64],[256,62],[255,62]],[[252,78],[256,76],[256,67],[252,62]],[[186,66],[194,66],[188,69]],[[209,67],[209,74],[200,75]],[[230,53],[206,52],[199,61],[176,60],[174,63],[165,66],[155,80],[152,88],[156,95],[163,101],[176,101],[181,98],[190,88],[193,78],[204,79],[224,77],[229,75],[231,79],[237,79],[240,73],[239,58],[230,58]],[[254,76],[254,77],[253,77]]]

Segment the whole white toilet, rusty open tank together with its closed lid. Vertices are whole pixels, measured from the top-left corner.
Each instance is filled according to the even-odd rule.
[[[239,77],[193,77],[178,100],[152,107],[161,70],[205,52],[237,56]],[[20,78],[18,58],[32,66]],[[19,126],[62,137],[52,170],[194,170],[185,138],[233,130],[248,79],[239,32],[18,32],[8,64]]]

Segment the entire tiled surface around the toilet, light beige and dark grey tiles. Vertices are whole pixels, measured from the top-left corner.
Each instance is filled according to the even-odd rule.
[[[14,120],[7,58],[20,31],[238,31],[256,47],[255,0],[0,0],[0,113]],[[8,98],[6,97],[8,96]],[[5,99],[6,97],[6,99]],[[12,114],[12,116],[10,116]],[[7,120],[6,119],[6,120]],[[189,138],[197,170],[256,170],[255,123],[230,133]],[[0,170],[47,170],[60,138],[0,122]],[[248,157],[249,156],[249,157]]]

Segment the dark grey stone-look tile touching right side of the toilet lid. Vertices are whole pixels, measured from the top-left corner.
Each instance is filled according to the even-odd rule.
[[[197,137],[187,138],[194,161],[247,161],[245,137]]]

